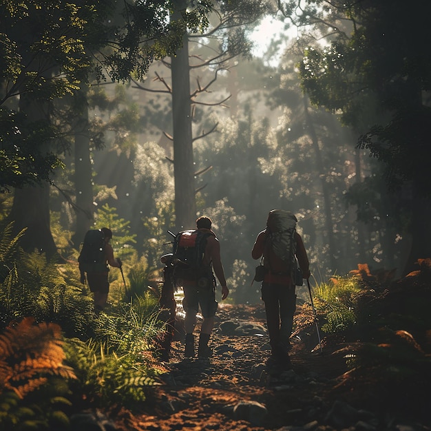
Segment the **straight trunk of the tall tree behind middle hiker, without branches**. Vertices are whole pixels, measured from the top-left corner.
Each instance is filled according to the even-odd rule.
[[[176,1],[178,10],[187,2]],[[187,34],[183,46],[171,57],[172,74],[172,120],[174,132],[174,180],[176,228],[191,229],[196,221],[195,180],[193,164],[193,141],[191,134],[191,101],[189,46]]]

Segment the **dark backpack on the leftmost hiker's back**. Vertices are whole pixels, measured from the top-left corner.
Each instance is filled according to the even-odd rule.
[[[105,257],[105,235],[101,229],[85,233],[78,262],[81,272],[103,273],[108,271]]]

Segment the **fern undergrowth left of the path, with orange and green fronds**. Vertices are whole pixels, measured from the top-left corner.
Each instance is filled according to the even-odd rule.
[[[97,317],[77,265],[24,253],[22,234],[0,231],[0,429],[66,430],[90,406],[140,408],[165,371],[157,298],[135,292]]]

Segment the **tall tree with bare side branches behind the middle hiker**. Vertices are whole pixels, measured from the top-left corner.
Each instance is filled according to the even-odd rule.
[[[193,1],[176,0],[174,21],[184,16],[185,10],[193,10]],[[189,9],[187,9],[189,8]],[[219,100],[202,100],[202,96],[210,92],[211,85],[217,81],[222,72],[229,72],[235,56],[248,56],[251,42],[246,38],[247,26],[255,23],[269,10],[266,3],[258,0],[218,1],[213,14],[209,15],[209,27],[206,31],[197,32],[197,28],[188,28],[183,45],[171,61],[165,64],[171,71],[171,85],[167,79],[158,76],[164,86],[163,92],[172,96],[172,124],[174,143],[174,176],[175,176],[175,207],[176,225],[178,229],[191,227],[196,219],[196,177],[202,172],[197,171],[193,158],[193,144],[208,136],[215,130],[211,125],[209,131],[196,132],[193,122],[199,116],[200,107],[224,105],[229,96]],[[189,46],[196,42],[207,48],[206,52],[195,52],[189,55]],[[203,72],[211,70],[211,78],[202,83]],[[191,90],[191,78],[196,78],[196,88]],[[196,76],[198,75],[198,76]],[[156,91],[136,83],[142,90]],[[202,115],[202,113],[200,113]],[[204,170],[207,167],[204,167]]]

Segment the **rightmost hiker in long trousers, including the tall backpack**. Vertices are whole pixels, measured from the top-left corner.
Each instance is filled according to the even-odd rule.
[[[271,359],[287,368],[291,364],[288,351],[291,350],[290,337],[296,309],[296,266],[293,267],[294,264],[291,264],[295,262],[295,257],[302,277],[306,280],[310,277],[306,249],[295,229],[296,222],[295,215],[289,211],[279,209],[270,211],[266,229],[257,235],[251,251],[253,259],[260,259],[263,256],[264,260],[261,292],[265,304]],[[284,232],[285,236],[283,237],[282,233],[280,238],[286,238],[286,242],[277,238],[279,232]]]

